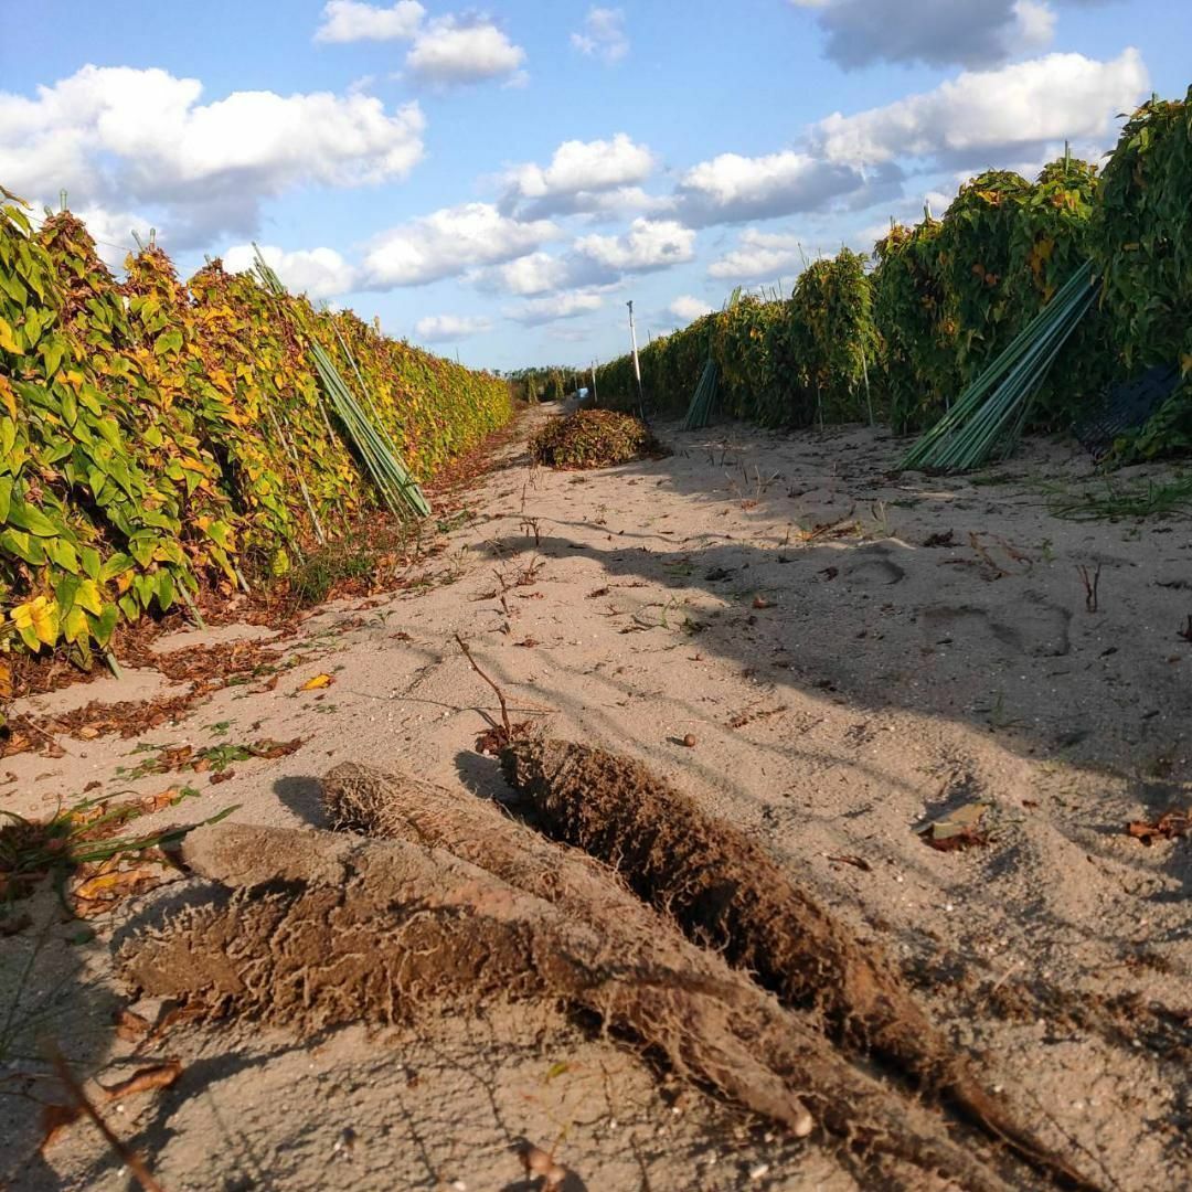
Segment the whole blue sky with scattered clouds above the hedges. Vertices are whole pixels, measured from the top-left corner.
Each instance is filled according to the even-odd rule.
[[[789,287],[960,180],[1099,156],[1182,97],[1141,0],[0,0],[0,184],[114,262],[266,247],[293,288],[513,368]]]

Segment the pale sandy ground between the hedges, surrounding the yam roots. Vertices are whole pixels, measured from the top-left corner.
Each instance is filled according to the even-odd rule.
[[[460,633],[519,719],[648,763],[881,939],[987,1084],[1106,1187],[1190,1186],[1192,840],[1144,848],[1124,826],[1192,803],[1192,522],[1053,516],[1049,491],[1089,472],[1054,445],[925,479],[890,478],[899,445],[867,429],[660,433],[669,458],[596,473],[509,448],[433,583],[317,610],[281,642],[299,660],[273,690],[226,688],[142,740],[4,759],[0,803],[44,814],[92,782],[154,794],[174,776],[130,776],[138,744],[262,737],[303,744],[219,784],[176,776],[200,790],[181,811],[318,825],[317,778],[344,759],[501,796],[474,749],[495,701]],[[330,687],[299,690],[321,672]],[[26,710],[174,690],[132,671]],[[915,834],[973,802],[987,846]],[[46,1036],[107,1081],[143,1063],[111,1025],[111,940],[135,907],[83,940],[36,906],[0,939],[10,1073]],[[814,1138],[768,1134],[555,1007],[313,1045],[180,1025],[153,1054],[181,1079],[110,1117],[169,1190],[515,1190],[520,1137],[557,1143],[572,1190],[858,1186]],[[86,1124],[39,1155],[35,1110],[0,1100],[0,1180],[129,1187]]]

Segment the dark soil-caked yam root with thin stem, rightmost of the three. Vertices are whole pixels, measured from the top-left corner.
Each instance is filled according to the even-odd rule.
[[[614,865],[640,898],[746,969],[787,1006],[813,1012],[843,1047],[912,1076],[1064,1185],[1093,1187],[985,1091],[881,949],[801,889],[740,830],[628,758],[561,740],[502,753],[544,830]]]

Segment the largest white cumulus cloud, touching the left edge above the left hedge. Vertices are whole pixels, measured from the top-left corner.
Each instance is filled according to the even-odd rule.
[[[161,69],[87,66],[33,98],[0,92],[0,178],[30,197],[67,188],[77,206],[162,209],[172,246],[256,229],[262,199],[310,184],[404,178],[421,160],[417,104],[329,92],[241,91]]]

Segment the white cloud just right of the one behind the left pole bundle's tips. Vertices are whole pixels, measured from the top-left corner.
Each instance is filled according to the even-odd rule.
[[[370,286],[417,286],[524,256],[560,235],[548,219],[522,222],[488,203],[443,207],[383,232],[365,256]]]

